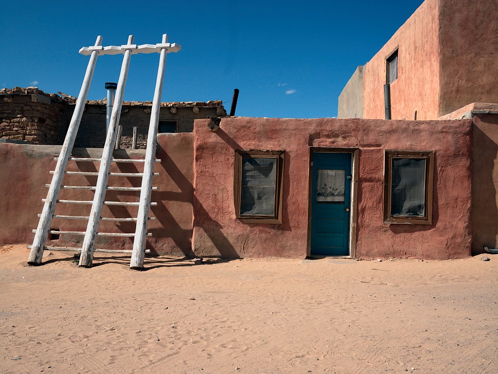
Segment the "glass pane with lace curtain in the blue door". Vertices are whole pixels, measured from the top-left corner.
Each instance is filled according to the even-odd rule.
[[[318,169],[316,176],[316,202],[344,204],[346,171]]]

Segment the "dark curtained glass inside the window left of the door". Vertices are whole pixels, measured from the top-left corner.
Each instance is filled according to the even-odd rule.
[[[241,215],[275,214],[276,158],[243,157]]]

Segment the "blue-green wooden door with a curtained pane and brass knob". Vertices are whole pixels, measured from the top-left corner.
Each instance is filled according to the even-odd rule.
[[[313,153],[311,255],[349,255],[351,153]]]

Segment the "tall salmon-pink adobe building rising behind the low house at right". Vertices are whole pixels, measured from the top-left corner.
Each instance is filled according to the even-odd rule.
[[[425,0],[357,68],[338,103],[339,118],[384,119],[388,111],[393,120],[473,121],[474,252],[498,240],[496,14],[495,0]]]

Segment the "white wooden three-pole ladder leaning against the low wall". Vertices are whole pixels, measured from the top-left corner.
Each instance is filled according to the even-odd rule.
[[[147,224],[149,220],[149,208],[151,205],[157,205],[157,203],[150,202],[150,193],[154,189],[152,187],[152,176],[158,175],[154,173],[154,162],[160,161],[155,159],[155,148],[156,148],[156,135],[157,126],[159,122],[159,109],[161,105],[161,95],[162,87],[164,82],[164,71],[166,66],[166,54],[170,52],[177,52],[181,49],[181,46],[176,43],[168,43],[167,35],[164,34],[162,37],[162,42],[158,44],[143,44],[137,46],[133,44],[133,35],[128,37],[128,42],[122,46],[107,46],[103,47],[102,37],[99,36],[94,46],[83,47],[80,49],[80,53],[84,55],[90,55],[90,61],[88,63],[87,71],[83,84],[78,96],[76,107],[71,119],[66,138],[64,140],[61,152],[57,159],[57,165],[53,173],[52,182],[48,185],[49,190],[47,198],[43,199],[45,205],[43,207],[40,216],[40,221],[35,233],[35,238],[33,245],[28,248],[31,249],[28,258],[28,264],[37,265],[41,263],[43,250],[53,249],[53,250],[80,250],[80,266],[90,267],[92,266],[93,253],[94,251],[111,252],[111,253],[123,253],[130,252],[130,250],[112,250],[112,249],[95,249],[94,243],[96,236],[110,236],[110,237],[133,237],[133,250],[131,251],[132,257],[130,261],[130,267],[133,269],[141,269],[143,267],[143,258],[145,252],[145,242],[146,237],[151,236],[147,234]],[[156,87],[154,91],[154,99],[152,102],[152,111],[150,116],[149,130],[147,135],[147,147],[145,151],[145,159],[116,159],[113,158],[113,150],[116,142],[116,134],[118,129],[118,124],[121,115],[121,109],[123,105],[124,88],[126,85],[126,79],[128,75],[128,68],[131,54],[137,53],[160,53],[159,58],[159,68],[157,72]],[[118,82],[116,99],[113,106],[113,111],[111,114],[111,121],[109,124],[109,129],[107,132],[106,142],[102,152],[101,158],[78,158],[71,157],[72,149],[76,139],[76,134],[78,127],[81,122],[81,117],[83,110],[85,108],[85,103],[88,96],[88,91],[92,81],[93,73],[95,71],[95,65],[97,62],[97,57],[99,55],[105,54],[124,54],[123,64],[121,67],[120,78]],[[98,172],[84,172],[84,171],[67,171],[68,161],[89,161],[96,162],[100,161],[100,167]],[[143,173],[113,173],[110,172],[110,166],[112,162],[143,162],[144,168]],[[63,185],[64,176],[68,174],[80,174],[80,175],[97,175],[97,185],[96,186],[71,186]],[[110,187],[108,185],[109,176],[126,176],[126,177],[142,177],[141,187]],[[87,189],[95,191],[95,196],[93,201],[80,201],[80,200],[59,200],[59,194],[61,189]],[[140,198],[138,202],[114,202],[105,201],[106,191],[140,191]],[[89,216],[63,216],[55,215],[55,207],[57,203],[63,204],[91,204],[92,208]],[[136,218],[102,218],[102,208],[103,205],[121,205],[121,206],[138,206],[138,214]],[[68,219],[68,220],[88,220],[87,229],[85,232],[77,231],[55,231],[51,230],[50,226],[53,218]],[[134,221],[136,222],[135,233],[99,233],[99,223],[100,221],[115,221],[115,222],[126,222]],[[74,234],[74,235],[84,235],[82,248],[60,248],[46,246],[46,241],[49,234]]]

